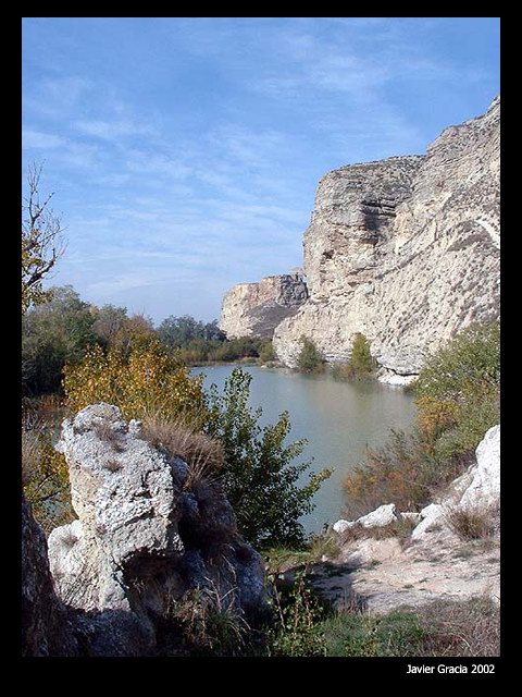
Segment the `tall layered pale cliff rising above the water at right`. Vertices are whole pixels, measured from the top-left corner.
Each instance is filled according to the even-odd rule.
[[[300,337],[346,360],[357,332],[388,375],[474,321],[499,316],[500,98],[446,129],[423,157],[324,176],[304,233],[309,299],[274,332],[294,367]]]

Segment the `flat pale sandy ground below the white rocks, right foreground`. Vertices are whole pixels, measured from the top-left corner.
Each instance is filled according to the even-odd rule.
[[[447,529],[424,539],[362,539],[315,564],[312,583],[338,607],[383,612],[436,599],[488,596],[500,601],[500,540],[463,542]]]

